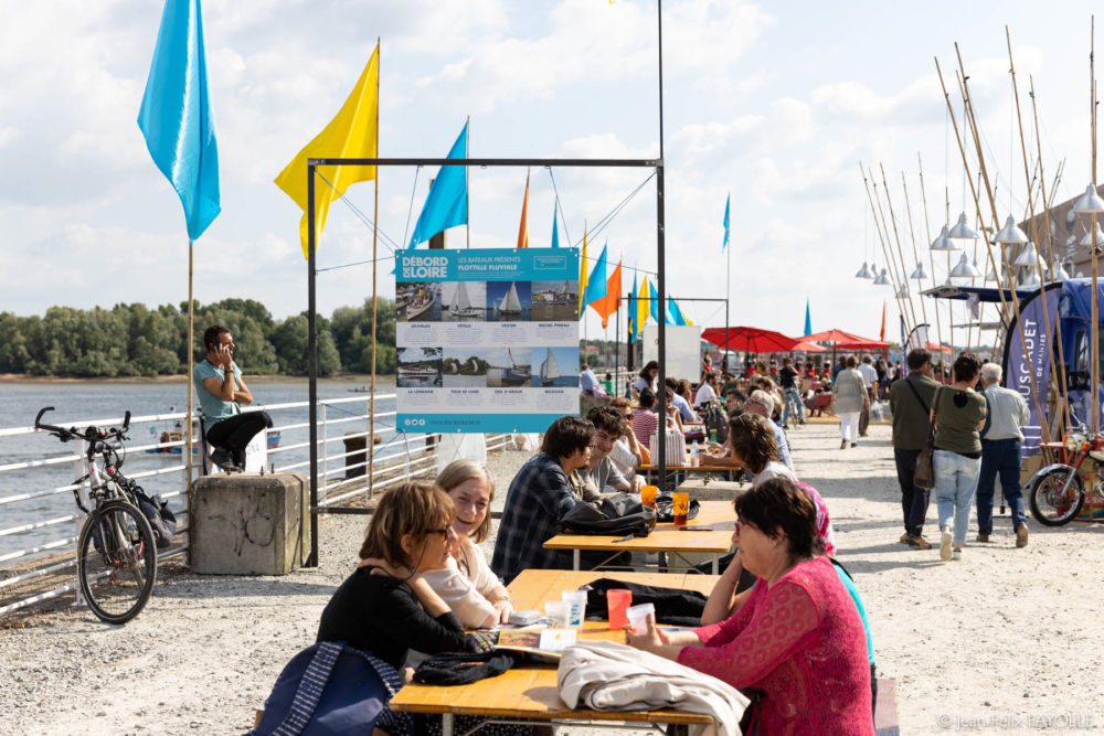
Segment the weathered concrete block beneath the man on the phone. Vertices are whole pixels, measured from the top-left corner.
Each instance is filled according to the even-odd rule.
[[[192,484],[192,569],[287,575],[310,554],[310,490],[297,472],[206,476]]]

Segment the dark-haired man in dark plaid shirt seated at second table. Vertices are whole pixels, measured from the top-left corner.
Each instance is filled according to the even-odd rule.
[[[590,422],[560,417],[544,433],[541,452],[521,466],[510,481],[490,563],[507,584],[530,567],[571,568],[570,554],[543,545],[556,535],[560,520],[576,503],[567,476],[587,463],[593,441],[594,425]]]

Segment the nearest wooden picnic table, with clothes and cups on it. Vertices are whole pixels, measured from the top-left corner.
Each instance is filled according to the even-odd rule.
[[[596,572],[527,569],[518,575],[508,588],[517,608],[543,610],[545,601],[560,600],[562,590],[578,588],[603,576],[604,573]],[[718,579],[711,575],[665,573],[618,573],[615,577],[626,583],[686,588],[705,595],[713,589]],[[607,639],[624,643],[625,632],[609,631],[609,625],[605,621],[588,620],[584,622],[578,638]],[[444,687],[408,684],[391,698],[390,706],[394,711],[440,714],[444,736],[452,736],[454,718],[457,715],[492,719],[526,718],[558,724],[630,722],[689,726],[712,723],[707,715],[672,710],[637,712],[571,710],[560,700],[556,668],[537,662],[521,662],[497,678],[480,680],[468,685]]]

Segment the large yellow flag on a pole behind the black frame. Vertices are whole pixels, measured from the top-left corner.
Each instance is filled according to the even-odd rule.
[[[276,177],[276,185],[302,210],[299,237],[302,256],[307,255],[307,159],[362,158],[379,156],[380,143],[380,45],[375,45],[357,86],[349,98],[312,141],[295,154],[291,162]],[[315,247],[322,239],[330,202],[344,194],[358,181],[375,179],[375,167],[319,167],[315,182]],[[322,181],[325,178],[326,181]],[[329,183],[326,183],[326,182]],[[332,186],[331,186],[332,184]]]

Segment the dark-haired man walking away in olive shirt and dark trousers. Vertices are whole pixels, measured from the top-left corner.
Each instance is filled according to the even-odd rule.
[[[916,349],[909,353],[909,376],[894,381],[890,386],[890,412],[893,414],[893,462],[901,486],[901,511],[904,515],[904,534],[901,543],[914,550],[931,550],[924,538],[924,519],[931,491],[916,486],[916,458],[927,441],[932,399],[940,384],[932,378],[932,354]]]

